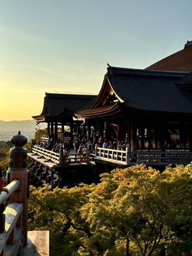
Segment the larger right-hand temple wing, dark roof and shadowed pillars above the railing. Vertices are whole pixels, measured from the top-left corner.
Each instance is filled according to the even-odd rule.
[[[104,140],[126,140],[131,152],[192,149],[191,88],[190,72],[108,67],[99,95],[76,116]]]

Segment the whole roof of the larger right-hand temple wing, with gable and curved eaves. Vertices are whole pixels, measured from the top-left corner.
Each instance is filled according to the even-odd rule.
[[[192,86],[190,72],[108,67],[99,95],[89,109],[79,111],[77,116],[96,118],[106,114],[115,115],[120,111],[124,113],[152,111],[191,116],[192,95],[182,86],[186,83]],[[105,97],[108,84],[118,99],[121,99],[118,100],[118,104],[111,102],[111,107],[109,104],[100,105],[104,102],[100,99]]]

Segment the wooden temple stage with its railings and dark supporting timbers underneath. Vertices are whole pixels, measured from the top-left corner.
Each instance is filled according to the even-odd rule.
[[[134,164],[145,164],[161,168],[169,164],[187,164],[192,159],[192,152],[188,149],[152,149],[113,150],[95,147],[95,154],[63,155],[40,147],[33,147],[28,157],[32,159],[31,168],[39,182],[51,184],[52,188],[59,186],[73,186],[79,182],[95,182],[99,180],[99,173],[126,168]]]

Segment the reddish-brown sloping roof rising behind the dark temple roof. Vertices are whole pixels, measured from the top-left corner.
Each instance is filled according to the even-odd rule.
[[[192,72],[192,41],[188,41],[181,51],[175,52],[145,69]]]

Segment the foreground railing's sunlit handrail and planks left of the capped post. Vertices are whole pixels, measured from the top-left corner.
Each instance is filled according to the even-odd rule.
[[[19,188],[20,181],[13,180],[0,195],[0,255],[17,255],[22,243],[22,203],[8,204],[8,198]]]

